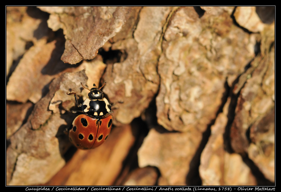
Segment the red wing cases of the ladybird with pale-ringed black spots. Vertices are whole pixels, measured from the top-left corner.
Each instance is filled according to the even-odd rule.
[[[100,146],[110,133],[112,115],[95,119],[87,115],[78,115],[69,130],[70,141],[79,149],[93,149]]]

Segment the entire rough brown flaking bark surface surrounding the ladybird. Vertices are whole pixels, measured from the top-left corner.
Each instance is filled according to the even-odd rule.
[[[273,185],[274,11],[7,7],[6,184]],[[76,151],[66,92],[105,81],[115,126]]]

